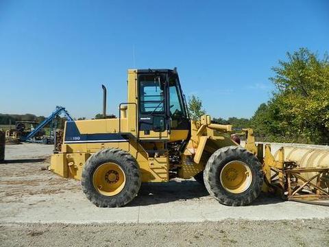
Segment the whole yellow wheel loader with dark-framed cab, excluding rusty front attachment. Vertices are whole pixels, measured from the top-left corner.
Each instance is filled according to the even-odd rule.
[[[176,69],[128,70],[119,118],[106,118],[105,110],[103,115],[66,121],[61,150],[50,166],[60,176],[81,180],[98,207],[121,207],[141,183],[174,177],[195,177],[221,204],[246,205],[262,187],[271,189],[271,165],[284,166],[269,152],[262,167],[263,145],[256,147],[252,130],[245,130],[242,148],[231,139],[232,126],[213,124],[208,115],[191,121]]]

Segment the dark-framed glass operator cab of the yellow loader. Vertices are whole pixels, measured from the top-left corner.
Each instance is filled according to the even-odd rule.
[[[190,121],[176,69],[145,69],[136,72],[139,139],[186,139]]]

